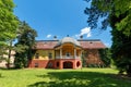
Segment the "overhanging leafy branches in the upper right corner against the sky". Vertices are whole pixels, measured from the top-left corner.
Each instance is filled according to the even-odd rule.
[[[119,18],[114,23],[116,29],[121,30],[126,36],[131,36],[131,0],[92,0],[92,7],[85,9],[85,14],[90,15],[87,22],[92,28],[99,25],[97,21],[102,17],[102,28],[107,28],[111,22],[110,15],[115,15]]]

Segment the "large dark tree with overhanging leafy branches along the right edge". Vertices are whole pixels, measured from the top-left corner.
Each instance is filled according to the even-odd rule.
[[[131,76],[131,0],[92,0],[85,14],[90,16],[87,22],[92,28],[97,27],[99,18],[103,18],[102,29],[112,28],[112,60],[120,73]]]

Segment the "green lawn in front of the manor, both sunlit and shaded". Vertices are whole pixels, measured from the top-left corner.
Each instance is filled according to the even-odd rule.
[[[131,87],[112,69],[0,70],[0,87]]]

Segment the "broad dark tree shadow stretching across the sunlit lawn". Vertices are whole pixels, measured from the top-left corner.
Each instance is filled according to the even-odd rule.
[[[51,72],[37,77],[49,77],[27,87],[130,87],[131,83],[118,79],[116,75],[95,72]]]

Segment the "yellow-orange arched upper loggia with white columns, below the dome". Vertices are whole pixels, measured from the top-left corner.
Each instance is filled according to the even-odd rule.
[[[55,50],[56,59],[79,59],[81,58],[81,47],[75,47],[72,44],[64,44],[57,47]]]

